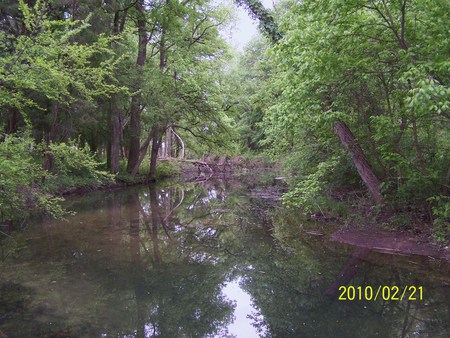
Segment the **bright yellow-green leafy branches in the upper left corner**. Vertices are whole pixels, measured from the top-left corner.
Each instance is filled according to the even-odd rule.
[[[2,32],[10,44],[0,44],[0,108],[15,107],[26,113],[30,108],[44,109],[41,96],[65,103],[78,96],[93,102],[94,97],[117,91],[106,83],[116,66],[108,49],[110,40],[99,36],[89,45],[74,41],[89,27],[89,18],[49,20],[46,2],[41,1],[33,8],[20,1],[19,7],[28,32],[19,36]],[[96,65],[92,61],[100,54],[104,60]]]

